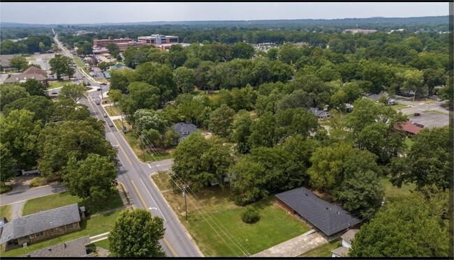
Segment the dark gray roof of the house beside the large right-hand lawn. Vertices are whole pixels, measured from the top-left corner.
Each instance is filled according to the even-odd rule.
[[[276,197],[327,236],[362,222],[342,207],[320,199],[304,187],[276,194]]]

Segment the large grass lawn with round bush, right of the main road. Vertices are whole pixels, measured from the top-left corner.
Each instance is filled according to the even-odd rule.
[[[153,179],[156,183],[163,183],[157,180],[159,177],[155,175]],[[254,224],[242,222],[241,214],[245,208],[235,206],[230,201],[230,192],[227,188],[222,190],[219,187],[212,187],[198,192],[197,196],[203,201],[203,206],[193,195],[188,194],[187,222],[181,193],[165,192],[163,196],[206,257],[242,256],[243,253],[232,240],[246,248],[249,254],[256,254],[310,230],[300,220],[274,204],[272,195],[268,199],[252,204],[261,217]],[[223,227],[220,227],[220,223]]]

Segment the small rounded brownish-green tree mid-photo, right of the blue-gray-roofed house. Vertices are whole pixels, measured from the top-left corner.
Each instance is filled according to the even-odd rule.
[[[226,105],[221,105],[221,107],[214,110],[210,114],[210,131],[212,131],[215,135],[228,137],[232,131],[234,116],[235,110]]]

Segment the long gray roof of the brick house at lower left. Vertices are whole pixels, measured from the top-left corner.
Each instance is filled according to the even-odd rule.
[[[80,222],[78,204],[18,217],[3,226],[0,244],[75,222]]]

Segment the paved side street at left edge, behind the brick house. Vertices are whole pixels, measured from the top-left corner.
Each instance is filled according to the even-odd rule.
[[[0,204],[3,206],[64,191],[66,191],[66,188],[64,188],[61,184],[47,185],[29,190],[12,191],[0,196]]]

